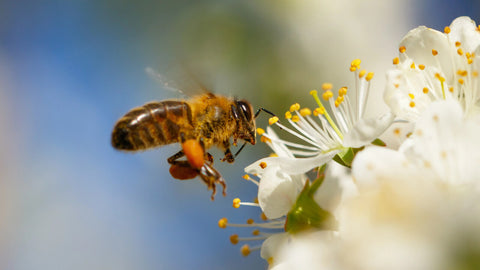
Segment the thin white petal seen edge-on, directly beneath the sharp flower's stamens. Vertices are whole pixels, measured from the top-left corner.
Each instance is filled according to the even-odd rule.
[[[330,151],[325,154],[319,154],[311,158],[288,158],[288,157],[267,157],[262,158],[245,168],[245,172],[250,174],[263,173],[260,163],[265,162],[268,166],[279,166],[282,172],[286,174],[298,175],[310,171],[313,168],[322,166],[339,152],[339,150]]]

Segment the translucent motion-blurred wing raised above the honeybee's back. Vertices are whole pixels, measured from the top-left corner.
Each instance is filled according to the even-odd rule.
[[[180,93],[183,98],[211,92],[201,82],[199,76],[185,67],[182,67],[180,72],[172,72],[177,75],[173,77],[179,78],[177,80],[169,80],[165,75],[157,72],[151,67],[145,68],[145,72],[150,78],[160,83],[165,89]]]

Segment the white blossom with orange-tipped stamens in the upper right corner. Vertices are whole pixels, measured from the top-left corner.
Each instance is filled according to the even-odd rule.
[[[479,110],[480,31],[459,17],[444,33],[425,26],[400,42],[396,69],[387,73],[385,102],[404,120],[415,121],[435,100],[457,100],[467,114]]]

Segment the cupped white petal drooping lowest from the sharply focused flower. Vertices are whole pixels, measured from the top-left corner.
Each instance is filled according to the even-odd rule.
[[[258,203],[269,219],[286,215],[299,193],[297,183],[279,167],[265,168],[258,186]]]

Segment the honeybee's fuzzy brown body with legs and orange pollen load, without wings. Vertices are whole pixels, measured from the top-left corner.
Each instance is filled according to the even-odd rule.
[[[226,184],[212,166],[213,157],[206,150],[217,146],[224,151],[222,161],[234,162],[246,143],[255,144],[255,118],[261,110],[266,111],[261,108],[254,114],[248,101],[212,93],[187,100],[149,102],[117,121],[112,146],[139,151],[180,143],[182,149],[167,159],[170,174],[179,180],[200,176],[208,189],[212,189],[213,200],[216,184],[222,185],[224,196]],[[235,156],[230,150],[230,138],[234,145],[238,139],[245,142]],[[186,160],[179,160],[184,156]]]

